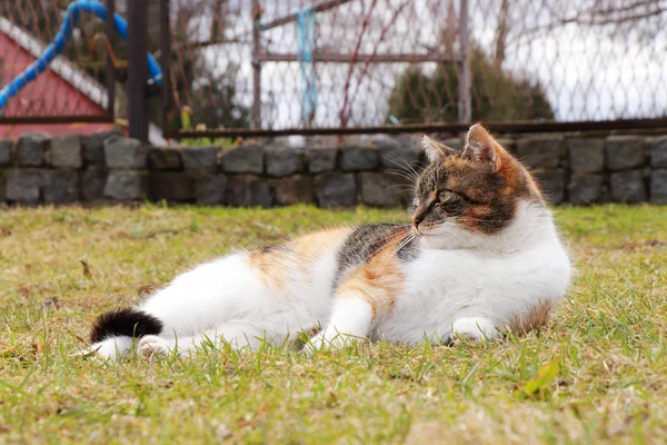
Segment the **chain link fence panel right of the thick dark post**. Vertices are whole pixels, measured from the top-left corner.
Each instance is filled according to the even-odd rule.
[[[667,116],[665,1],[181,0],[172,14],[175,105],[200,128]]]

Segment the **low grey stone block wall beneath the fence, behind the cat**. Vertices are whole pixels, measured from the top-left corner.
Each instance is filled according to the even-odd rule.
[[[667,136],[540,135],[500,142],[539,178],[554,204],[667,204]],[[461,147],[460,139],[446,144]],[[378,207],[410,200],[424,165],[418,137],[377,136],[344,147],[285,141],[156,148],[116,132],[27,134],[0,140],[0,202],[167,200],[217,206]]]

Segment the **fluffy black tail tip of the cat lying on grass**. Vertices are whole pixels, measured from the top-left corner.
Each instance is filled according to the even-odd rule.
[[[92,325],[90,343],[104,338],[126,336],[142,337],[162,332],[162,322],[143,310],[126,308],[102,314]]]

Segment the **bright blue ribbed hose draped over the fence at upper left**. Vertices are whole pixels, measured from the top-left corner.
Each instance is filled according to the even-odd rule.
[[[102,20],[107,20],[107,8],[98,1],[77,0],[70,3],[53,43],[49,44],[39,59],[30,65],[30,67],[0,90],[0,110],[4,108],[9,99],[18,95],[23,87],[37,79],[37,76],[44,72],[49,63],[64,51],[67,40],[72,36],[72,31],[77,27],[81,11],[93,13]],[[113,26],[116,32],[118,32],[123,40],[128,40],[128,24],[119,14],[113,14]],[[157,85],[162,83],[162,70],[150,52],[148,53],[148,76],[149,81],[153,81]]]

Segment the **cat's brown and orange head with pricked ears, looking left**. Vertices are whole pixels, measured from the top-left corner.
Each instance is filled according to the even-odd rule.
[[[479,123],[461,151],[426,136],[422,148],[430,164],[416,182],[416,236],[495,235],[511,225],[521,200],[544,205],[530,174]]]

